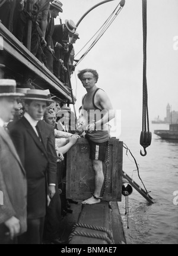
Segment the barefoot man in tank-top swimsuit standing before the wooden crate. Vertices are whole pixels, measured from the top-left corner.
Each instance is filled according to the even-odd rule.
[[[82,115],[85,116],[85,138],[90,143],[90,159],[95,174],[95,189],[91,198],[82,204],[98,204],[104,182],[103,161],[105,161],[109,132],[107,123],[115,117],[112,104],[104,90],[97,88],[98,73],[96,70],[85,69],[78,73],[78,78],[87,90],[82,98]]]

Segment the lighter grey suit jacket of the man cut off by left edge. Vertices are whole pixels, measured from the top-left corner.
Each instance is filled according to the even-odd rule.
[[[4,205],[0,205],[0,225],[12,216],[20,220],[21,233],[27,224],[27,180],[26,171],[8,133],[0,127],[0,191]],[[1,227],[0,227],[1,229]]]

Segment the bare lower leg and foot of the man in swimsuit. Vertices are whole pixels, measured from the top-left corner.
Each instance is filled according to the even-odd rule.
[[[92,167],[94,170],[94,181],[95,181],[95,189],[94,189],[94,196],[96,198],[100,197],[101,188],[103,186],[104,182],[104,174],[103,174],[103,162],[100,160],[91,160]],[[98,204],[100,203],[100,199],[94,198],[94,196],[91,196],[91,198],[88,198],[87,200],[83,201],[82,204]]]

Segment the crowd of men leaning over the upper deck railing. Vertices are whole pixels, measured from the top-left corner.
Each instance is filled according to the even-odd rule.
[[[79,34],[72,20],[55,25],[55,18],[62,12],[59,0],[34,0],[30,11],[27,0],[0,0],[2,24],[26,46],[28,21],[32,21],[31,53],[68,85],[69,76],[74,71],[73,44]]]

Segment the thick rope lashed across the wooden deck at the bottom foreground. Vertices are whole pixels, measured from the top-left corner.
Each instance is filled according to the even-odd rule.
[[[101,234],[94,234],[94,233],[88,233],[88,232],[82,232],[82,231],[75,231],[76,227],[83,227],[86,229],[91,229],[91,230],[97,230],[97,231],[101,231],[101,232],[106,232],[106,235],[101,235]],[[72,228],[72,233],[69,236],[69,243],[72,240],[73,236],[85,236],[87,238],[97,238],[97,239],[101,239],[106,241],[108,244],[114,244],[114,240],[113,240],[113,236],[112,236],[112,232],[110,232],[110,230],[107,230],[105,227],[97,227],[94,225],[88,225],[88,224],[84,224],[84,223],[75,223],[73,228]]]

